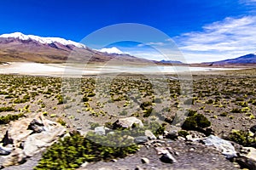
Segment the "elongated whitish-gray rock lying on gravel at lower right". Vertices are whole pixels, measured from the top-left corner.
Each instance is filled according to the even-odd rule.
[[[222,154],[228,159],[237,156],[234,146],[229,141],[218,138],[218,136],[210,135],[203,142],[206,145],[213,145],[216,149],[221,150]]]

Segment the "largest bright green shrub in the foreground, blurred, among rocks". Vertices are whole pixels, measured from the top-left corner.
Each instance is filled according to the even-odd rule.
[[[109,146],[109,143],[117,140],[123,142],[125,146]],[[34,170],[76,169],[84,161],[109,161],[113,158],[125,157],[137,150],[137,144],[133,144],[131,139],[120,140],[115,134],[100,136],[88,133],[84,137],[75,132],[70,137],[60,139],[57,143],[51,145],[38,162],[38,166],[34,167]]]

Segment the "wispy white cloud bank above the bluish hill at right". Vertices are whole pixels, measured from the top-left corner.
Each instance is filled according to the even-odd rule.
[[[189,62],[236,58],[256,51],[255,28],[256,16],[228,17],[174,40]]]

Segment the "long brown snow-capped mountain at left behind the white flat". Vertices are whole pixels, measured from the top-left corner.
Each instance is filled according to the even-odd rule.
[[[0,36],[0,62],[26,61],[64,63],[67,59],[78,62],[108,62],[148,64],[154,61],[129,54],[108,54],[60,37],[38,37],[20,32]]]

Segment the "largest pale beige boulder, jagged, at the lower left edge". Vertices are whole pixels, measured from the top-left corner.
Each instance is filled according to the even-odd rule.
[[[1,147],[6,156],[3,167],[18,165],[27,157],[45,150],[66,132],[66,128],[58,122],[52,122],[38,115],[35,118],[24,118],[11,122],[5,133],[1,146],[12,144],[12,148]]]

